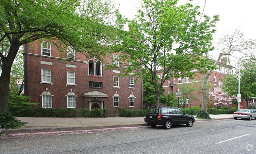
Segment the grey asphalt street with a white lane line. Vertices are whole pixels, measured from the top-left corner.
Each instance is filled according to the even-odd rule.
[[[256,120],[200,121],[193,127],[123,127],[0,138],[1,154],[254,154]]]

